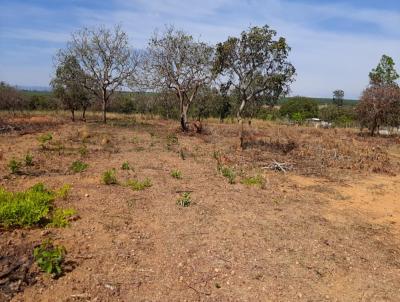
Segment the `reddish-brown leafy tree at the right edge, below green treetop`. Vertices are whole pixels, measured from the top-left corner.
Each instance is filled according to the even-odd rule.
[[[361,127],[369,129],[371,136],[381,126],[400,125],[400,88],[396,85],[370,86],[364,90],[357,105]]]

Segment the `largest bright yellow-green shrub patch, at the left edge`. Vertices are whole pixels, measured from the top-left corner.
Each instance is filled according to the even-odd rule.
[[[25,192],[12,193],[0,188],[0,225],[31,227],[42,223],[51,210],[55,194],[37,184]]]

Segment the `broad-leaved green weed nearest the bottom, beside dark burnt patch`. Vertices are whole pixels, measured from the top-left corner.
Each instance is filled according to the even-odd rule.
[[[62,275],[62,264],[66,250],[63,246],[56,246],[50,240],[45,240],[33,250],[33,256],[40,269],[53,278]]]

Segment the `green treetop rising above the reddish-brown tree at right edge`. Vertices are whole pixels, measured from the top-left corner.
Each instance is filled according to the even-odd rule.
[[[399,77],[393,59],[387,55],[383,55],[378,66],[369,73],[371,86],[397,85]]]

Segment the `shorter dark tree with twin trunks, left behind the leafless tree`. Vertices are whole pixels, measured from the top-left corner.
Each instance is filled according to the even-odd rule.
[[[82,85],[85,74],[74,56],[62,58],[64,61],[59,62],[50,85],[64,108],[71,111],[72,121],[75,121],[75,111],[80,108],[83,109],[82,118],[85,120],[85,112],[90,104],[90,96]]]

